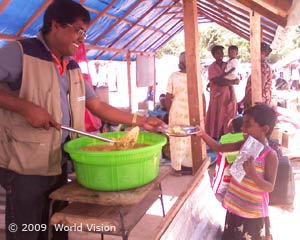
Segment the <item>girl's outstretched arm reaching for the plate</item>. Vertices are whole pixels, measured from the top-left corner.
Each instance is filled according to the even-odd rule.
[[[200,133],[197,134],[200,136],[204,142],[210,147],[214,152],[233,152],[238,151],[243,145],[244,141],[236,142],[236,143],[227,143],[221,144],[217,142],[215,139],[210,137],[205,131],[201,130]]]

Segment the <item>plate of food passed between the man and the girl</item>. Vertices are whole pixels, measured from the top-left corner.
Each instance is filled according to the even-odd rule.
[[[166,127],[162,127],[160,131],[172,137],[187,137],[199,133],[200,128],[188,125],[168,125]]]

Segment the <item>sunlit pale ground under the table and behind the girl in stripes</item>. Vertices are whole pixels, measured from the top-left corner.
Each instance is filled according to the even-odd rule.
[[[294,158],[291,160],[293,167],[296,195],[293,206],[280,206],[269,207],[270,220],[272,227],[272,234],[274,240],[297,240],[300,239],[300,158]],[[208,169],[210,176],[213,175],[214,166]],[[183,191],[190,183],[192,176],[174,177],[169,176],[163,182],[164,190],[164,202],[166,211],[176,202],[176,199],[181,191]],[[3,200],[4,194],[2,192],[1,198]],[[5,240],[4,234],[4,201],[1,201],[1,231],[0,240]],[[141,219],[141,221],[135,226],[129,235],[129,240],[152,240],[155,236],[155,229],[161,222],[162,213],[159,202],[148,210],[147,214]],[[70,240],[82,240],[82,239],[101,239],[101,236],[88,233],[70,233]],[[108,236],[106,240],[121,240],[121,237]],[[188,239],[187,239],[188,240]]]

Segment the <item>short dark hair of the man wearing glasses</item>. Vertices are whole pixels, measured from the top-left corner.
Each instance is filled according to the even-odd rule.
[[[91,21],[89,12],[82,5],[71,0],[54,0],[45,11],[41,31],[43,34],[49,33],[53,20],[65,26],[78,19],[85,24]]]

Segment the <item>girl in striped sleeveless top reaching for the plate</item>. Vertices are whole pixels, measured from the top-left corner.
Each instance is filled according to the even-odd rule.
[[[244,113],[243,133],[264,144],[264,149],[256,159],[249,158],[243,163],[246,175],[241,182],[233,177],[230,180],[222,203],[227,209],[222,240],[268,239],[264,231],[268,194],[274,189],[278,168],[277,154],[268,146],[268,138],[276,120],[275,110],[264,103],[257,103]],[[220,144],[204,131],[198,135],[216,152],[236,151],[244,143]]]

